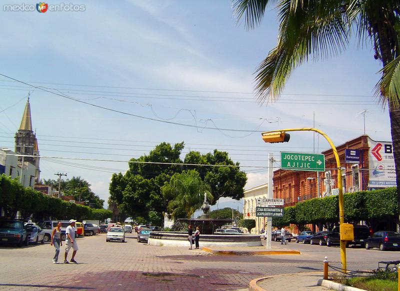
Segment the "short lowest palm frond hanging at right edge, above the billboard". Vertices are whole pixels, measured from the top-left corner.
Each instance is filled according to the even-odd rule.
[[[382,107],[392,102],[398,108],[400,104],[400,56],[387,63],[381,70],[382,77],[375,85],[375,95]]]

